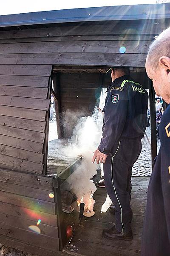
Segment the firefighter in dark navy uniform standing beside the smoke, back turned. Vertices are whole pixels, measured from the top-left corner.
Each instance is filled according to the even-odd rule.
[[[103,230],[113,240],[133,238],[130,223],[131,175],[142,150],[147,125],[147,91],[129,76],[127,68],[111,69],[112,84],[104,108],[103,134],[92,163],[104,163],[105,186],[115,208],[115,225]]]

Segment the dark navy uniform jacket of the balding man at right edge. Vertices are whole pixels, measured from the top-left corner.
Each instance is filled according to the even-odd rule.
[[[170,256],[170,106],[159,127],[161,147],[148,187],[141,256]]]

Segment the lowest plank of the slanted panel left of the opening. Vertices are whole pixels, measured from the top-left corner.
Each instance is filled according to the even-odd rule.
[[[40,163],[33,163],[28,160],[21,160],[17,157],[10,157],[7,155],[0,154],[0,163],[9,166],[15,167],[18,170],[26,170],[29,172],[35,172],[35,173],[42,173],[43,170],[43,164]]]

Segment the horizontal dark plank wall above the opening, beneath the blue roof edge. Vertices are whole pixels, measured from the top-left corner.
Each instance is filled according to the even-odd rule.
[[[150,42],[169,25],[164,19],[124,20],[4,31],[0,63],[144,67]],[[119,52],[121,46],[126,47],[125,54]]]

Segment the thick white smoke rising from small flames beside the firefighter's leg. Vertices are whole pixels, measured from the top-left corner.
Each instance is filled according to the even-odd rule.
[[[102,136],[102,114],[97,109],[92,116],[81,117],[73,131],[70,145],[65,149],[68,157],[82,156],[82,162],[75,172],[68,177],[67,183],[77,196],[77,201],[85,203],[85,207],[93,210],[95,201],[92,195],[96,186],[91,178],[97,173],[99,166],[92,163],[93,152]]]

